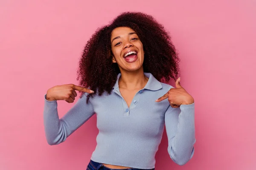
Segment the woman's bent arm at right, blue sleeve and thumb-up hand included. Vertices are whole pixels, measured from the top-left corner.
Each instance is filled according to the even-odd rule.
[[[176,164],[184,165],[194,155],[195,102],[181,87],[180,78],[176,81],[176,88],[170,88],[156,102],[167,98],[170,103],[165,113],[168,153]]]

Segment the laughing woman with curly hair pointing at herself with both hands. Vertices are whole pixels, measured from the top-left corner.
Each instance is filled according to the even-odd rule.
[[[150,15],[125,12],[99,28],[79,61],[79,86],[47,91],[44,127],[50,145],[64,142],[97,116],[99,134],[87,170],[154,170],[164,126],[168,153],[179,165],[194,154],[195,103],[180,85],[169,34]],[[175,79],[176,88],[160,82]],[[76,104],[61,119],[57,100]],[[167,168],[166,168],[167,169]]]

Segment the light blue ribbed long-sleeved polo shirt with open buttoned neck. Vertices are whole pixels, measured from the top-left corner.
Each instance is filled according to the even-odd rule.
[[[165,126],[170,158],[177,164],[186,164],[194,154],[196,141],[195,103],[172,108],[168,99],[155,102],[173,87],[159,82],[151,73],[144,74],[148,82],[135,94],[129,108],[119,91],[121,74],[118,74],[111,94],[96,94],[88,104],[84,94],[61,119],[57,101],[45,99],[47,142],[50,145],[64,142],[96,113],[99,134],[91,156],[93,161],[140,169],[154,168],[155,154]]]

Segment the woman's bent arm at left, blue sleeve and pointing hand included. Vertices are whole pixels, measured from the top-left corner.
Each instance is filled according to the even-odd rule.
[[[70,88],[71,87],[71,88]],[[59,119],[57,100],[73,102],[75,90],[89,92],[88,89],[76,85],[61,85],[54,90],[48,90],[44,96],[44,130],[48,144],[55,145],[64,142],[76,129],[93,116],[93,105],[86,103],[86,94],[78,99],[76,104]],[[71,93],[70,93],[71,92]],[[89,92],[91,93],[91,92]],[[63,97],[63,96],[70,96]],[[47,97],[50,96],[50,97]]]

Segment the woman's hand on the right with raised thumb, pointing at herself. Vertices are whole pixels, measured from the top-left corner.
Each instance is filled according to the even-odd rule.
[[[180,105],[190,105],[194,103],[194,98],[186,92],[186,90],[180,85],[180,77],[177,79],[176,88],[171,88],[165,95],[156,100],[161,102],[168,98],[168,101],[172,108],[179,108]]]

